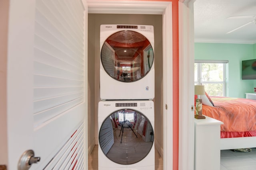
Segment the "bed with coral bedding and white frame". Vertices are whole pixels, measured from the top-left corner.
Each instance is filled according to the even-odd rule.
[[[220,126],[220,148],[240,149],[256,147],[256,100],[207,96],[203,98],[203,115],[212,117],[224,124]]]

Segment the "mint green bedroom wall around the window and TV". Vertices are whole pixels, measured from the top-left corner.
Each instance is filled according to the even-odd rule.
[[[256,80],[242,80],[242,60],[256,59],[256,44],[195,43],[195,60],[228,60],[226,96],[245,98]]]

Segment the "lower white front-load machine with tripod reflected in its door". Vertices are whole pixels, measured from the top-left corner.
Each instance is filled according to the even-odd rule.
[[[154,102],[100,101],[98,169],[154,170]]]

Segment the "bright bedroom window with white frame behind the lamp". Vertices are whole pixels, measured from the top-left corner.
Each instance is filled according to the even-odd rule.
[[[210,96],[226,96],[227,63],[226,60],[195,60],[195,85],[204,85],[205,91]]]

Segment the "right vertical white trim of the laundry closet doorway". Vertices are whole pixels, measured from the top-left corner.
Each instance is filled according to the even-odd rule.
[[[173,70],[172,4],[163,13],[163,160],[164,170],[173,169]]]

